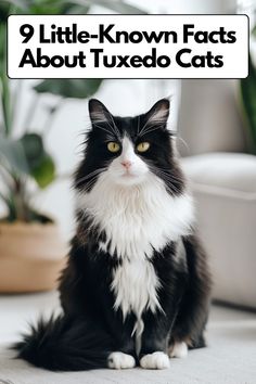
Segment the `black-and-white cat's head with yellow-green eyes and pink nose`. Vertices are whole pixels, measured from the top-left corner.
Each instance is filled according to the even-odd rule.
[[[89,101],[91,129],[86,153],[75,178],[79,191],[90,191],[102,174],[113,183],[139,185],[152,176],[163,180],[172,194],[183,189],[167,129],[169,100],[162,99],[145,114],[113,116],[95,99]]]

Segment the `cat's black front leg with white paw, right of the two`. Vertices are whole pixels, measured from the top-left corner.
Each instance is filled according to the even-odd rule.
[[[169,368],[167,355],[170,323],[164,313],[149,312],[144,316],[144,331],[139,354],[140,366],[144,369]]]

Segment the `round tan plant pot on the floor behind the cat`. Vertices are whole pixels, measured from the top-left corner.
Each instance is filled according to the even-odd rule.
[[[55,289],[66,254],[55,225],[0,223],[0,292]]]

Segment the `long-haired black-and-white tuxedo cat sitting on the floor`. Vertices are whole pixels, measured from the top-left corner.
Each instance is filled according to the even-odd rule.
[[[60,279],[63,313],[15,345],[50,370],[164,369],[205,346],[210,278],[167,129],[169,101],[113,116],[89,101],[75,174],[76,234]]]

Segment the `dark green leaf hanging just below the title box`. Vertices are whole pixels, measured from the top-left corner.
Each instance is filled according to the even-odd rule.
[[[35,87],[39,93],[52,93],[62,98],[87,99],[93,95],[102,79],[48,79]]]

